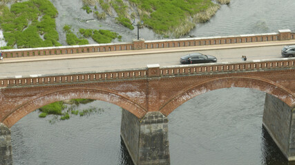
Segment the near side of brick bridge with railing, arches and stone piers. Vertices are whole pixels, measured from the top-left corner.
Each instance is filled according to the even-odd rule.
[[[170,164],[166,116],[195,96],[229,87],[267,93],[263,124],[294,159],[294,58],[0,79],[0,158],[12,162],[10,127],[28,113],[59,100],[90,98],[122,107],[121,135],[135,164]],[[155,141],[147,144],[144,136]]]

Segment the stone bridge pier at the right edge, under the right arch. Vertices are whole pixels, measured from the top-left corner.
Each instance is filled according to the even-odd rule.
[[[295,160],[295,108],[266,94],[263,126],[289,161]]]

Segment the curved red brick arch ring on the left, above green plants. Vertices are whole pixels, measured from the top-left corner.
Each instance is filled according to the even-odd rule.
[[[52,102],[60,100],[68,100],[72,98],[88,98],[95,100],[102,100],[116,104],[127,111],[133,113],[137,118],[142,118],[146,113],[146,109],[139,104],[120,96],[119,94],[112,93],[110,91],[104,91],[100,89],[88,89],[88,88],[70,88],[64,90],[53,91],[48,94],[44,94],[36,99],[32,99],[28,102],[23,102],[19,107],[13,109],[10,114],[6,116],[1,122],[6,124],[9,128],[13,126],[17,121],[21,120],[28,113],[35,111],[40,107]]]

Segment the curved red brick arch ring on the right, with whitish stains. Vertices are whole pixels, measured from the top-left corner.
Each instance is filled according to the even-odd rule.
[[[267,94],[276,96],[276,98],[279,98],[290,107],[295,107],[295,95],[285,87],[261,78],[229,77],[208,80],[207,82],[195,85],[189,89],[184,89],[181,93],[178,93],[178,96],[174,96],[171,100],[166,102],[166,104],[160,107],[160,112],[168,116],[174,111],[174,109],[193,97],[204,94],[207,91],[229,87],[244,87],[265,91]]]

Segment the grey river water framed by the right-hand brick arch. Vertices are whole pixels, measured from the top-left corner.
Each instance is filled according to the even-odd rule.
[[[218,98],[220,100],[213,101]],[[171,162],[287,162],[275,142],[270,142],[271,146],[261,146],[265,142],[265,135],[260,135],[264,131],[264,101],[263,91],[232,87],[209,91],[185,102],[168,116],[169,142],[173,151]],[[275,150],[271,148],[272,155],[267,151],[269,147],[276,147]],[[175,155],[181,157],[181,153],[190,152],[196,154],[186,155],[185,160],[175,159]],[[269,157],[273,159],[268,159]]]

